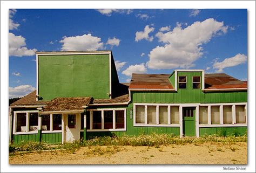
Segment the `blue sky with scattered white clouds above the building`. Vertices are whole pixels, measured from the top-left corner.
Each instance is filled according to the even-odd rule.
[[[35,51],[112,50],[132,73],[204,69],[247,80],[246,9],[9,11],[9,96],[36,88]]]

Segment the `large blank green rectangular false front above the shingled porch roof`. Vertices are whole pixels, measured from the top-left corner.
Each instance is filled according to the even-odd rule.
[[[38,56],[39,95],[108,99],[109,54]]]

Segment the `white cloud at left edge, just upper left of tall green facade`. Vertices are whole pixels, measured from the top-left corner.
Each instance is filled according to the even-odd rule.
[[[26,47],[25,38],[9,33],[9,56],[22,57],[35,55],[36,49]]]

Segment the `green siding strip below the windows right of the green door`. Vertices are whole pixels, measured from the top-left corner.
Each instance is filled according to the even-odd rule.
[[[207,135],[218,134],[221,136],[243,135],[246,132],[247,132],[247,127],[204,127],[204,128],[199,128],[200,136],[203,136],[205,134],[207,134]]]

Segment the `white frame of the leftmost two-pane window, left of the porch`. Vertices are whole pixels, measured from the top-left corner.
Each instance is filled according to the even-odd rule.
[[[17,114],[18,113],[26,113],[26,132],[17,132]],[[36,131],[29,131],[29,114],[30,113],[38,113],[38,110],[22,110],[22,111],[14,111],[14,127],[12,129],[12,134],[14,135],[22,135],[22,134],[37,134]],[[38,125],[39,127],[39,114],[38,114]]]

